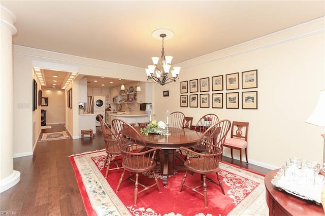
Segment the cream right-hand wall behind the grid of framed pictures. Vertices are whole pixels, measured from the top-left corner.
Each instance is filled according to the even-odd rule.
[[[247,121],[249,126],[248,159],[250,163],[274,168],[291,156],[322,162],[324,129],[305,123],[316,105],[319,90],[325,87],[324,26],[309,29],[301,25],[259,40],[225,49],[193,61],[184,62],[175,84],[156,88],[154,110],[164,119],[164,111],[181,111],[197,122],[201,116],[215,113],[220,119]],[[306,33],[310,32],[310,33]],[[257,69],[258,88],[241,89],[241,72]],[[180,107],[180,82],[226,74],[240,74],[240,109]],[[225,84],[225,83],[224,83]],[[169,97],[163,97],[169,90]],[[241,109],[241,92],[258,91],[258,109]],[[199,94],[199,93],[188,93]],[[173,102],[171,102],[173,101]],[[200,106],[200,105],[199,105]],[[238,151],[236,158],[239,158]],[[230,155],[229,149],[224,150]]]

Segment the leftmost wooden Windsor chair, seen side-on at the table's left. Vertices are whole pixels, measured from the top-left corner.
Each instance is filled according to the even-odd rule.
[[[122,168],[117,163],[117,160],[120,160],[120,159],[115,159],[115,156],[120,155],[121,151],[118,146],[118,140],[117,140],[116,134],[111,131],[109,126],[104,122],[101,115],[99,115],[99,119],[100,119],[100,123],[101,123],[103,138],[105,141],[105,152],[107,153],[107,156],[106,156],[106,159],[104,162],[104,167],[107,164],[106,174],[105,174],[105,177],[107,178],[109,170],[115,170],[115,169]],[[111,161],[114,161],[116,167],[110,169]]]

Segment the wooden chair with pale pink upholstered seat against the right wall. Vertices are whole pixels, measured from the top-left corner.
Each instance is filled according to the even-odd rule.
[[[233,121],[231,136],[230,138],[226,139],[224,142],[224,147],[230,148],[232,159],[234,159],[233,149],[239,150],[240,167],[242,167],[243,150],[245,150],[246,163],[248,163],[248,159],[247,159],[248,126],[249,126],[249,122]]]

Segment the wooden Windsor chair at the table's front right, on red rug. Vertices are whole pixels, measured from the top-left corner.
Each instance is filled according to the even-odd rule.
[[[210,126],[202,135],[197,142],[194,149],[188,149],[186,147],[181,147],[180,149],[186,153],[186,160],[184,166],[186,168],[181,186],[179,188],[179,193],[182,191],[183,186],[189,188],[191,191],[196,192],[204,196],[204,206],[208,207],[208,195],[207,195],[207,184],[212,182],[220,186],[222,193],[224,194],[222,182],[218,174],[219,161],[222,157],[223,143],[230,130],[231,122],[229,120],[221,120],[216,124]],[[196,152],[196,148],[201,146],[204,142],[205,151],[204,153]],[[201,174],[200,185],[193,187],[192,184],[185,184],[188,171],[192,173]],[[207,174],[216,173],[217,182],[207,177]],[[198,190],[203,187],[203,192]]]

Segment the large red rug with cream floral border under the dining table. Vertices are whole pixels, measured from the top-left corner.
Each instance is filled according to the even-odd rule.
[[[209,183],[208,207],[204,207],[204,197],[184,187],[178,192],[184,171],[178,171],[168,178],[164,188],[161,179],[159,193],[156,187],[138,195],[134,206],[134,183],[123,182],[115,193],[122,169],[110,170],[105,178],[106,158],[104,150],[70,156],[79,190],[88,215],[269,215],[265,201],[264,176],[228,163],[220,163],[219,175],[225,195],[219,186]],[[119,160],[121,163],[121,160]],[[115,166],[111,163],[110,167]],[[159,166],[156,172],[161,178]],[[128,172],[125,172],[128,175]],[[144,173],[151,177],[151,173]],[[153,178],[139,175],[139,181],[150,184]],[[209,175],[216,179],[215,174]],[[124,176],[125,178],[126,176]],[[188,175],[186,183],[200,184],[200,175]]]

